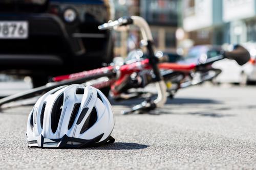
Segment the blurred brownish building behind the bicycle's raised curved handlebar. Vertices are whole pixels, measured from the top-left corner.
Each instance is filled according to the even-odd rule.
[[[116,18],[139,15],[149,23],[155,45],[160,50],[176,48],[175,32],[178,24],[178,0],[115,0]],[[117,55],[139,46],[138,31],[116,33]]]

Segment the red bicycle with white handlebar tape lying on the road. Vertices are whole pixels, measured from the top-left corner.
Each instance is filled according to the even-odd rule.
[[[248,51],[245,50],[244,47],[237,45],[232,52],[222,52],[219,56],[206,60],[202,64],[182,65],[176,63],[167,63],[166,57],[155,56],[153,50],[154,43],[150,27],[148,26],[147,22],[139,16],[122,17],[116,21],[104,23],[103,25],[99,26],[99,29],[118,29],[120,27],[126,27],[129,25],[135,25],[139,27],[142,38],[146,42],[146,59],[140,59],[139,61],[135,61],[130,64],[110,65],[103,68],[78,72],[75,74],[58,76],[53,78],[54,82],[51,82],[45,86],[34,88],[29,91],[14,94],[8,96],[7,98],[1,99],[0,106],[16,100],[27,99],[35,95],[40,95],[59,86],[82,84],[91,81],[92,85],[96,88],[111,87],[111,92],[114,95],[119,95],[123,91],[126,91],[130,88],[144,87],[147,84],[155,83],[157,89],[156,100],[146,100],[141,104],[134,106],[130,111],[124,113],[127,114],[133,113],[134,111],[151,110],[157,107],[162,107],[165,104],[167,100],[165,82],[167,80],[175,82],[177,77],[182,76],[181,79],[177,80],[177,82],[179,82],[179,88],[187,87],[214,77],[212,75],[208,77],[203,76],[203,79],[197,81],[196,83],[193,83],[193,81],[186,81],[181,83],[181,80],[184,79],[184,77],[188,74],[190,75],[191,73],[195,73],[197,71],[207,72],[210,70],[214,70],[216,72],[215,75],[217,75],[219,70],[207,67],[215,61],[229,58],[236,60],[240,65],[243,65],[250,59]],[[165,71],[160,71],[160,69]],[[141,72],[145,72],[146,70],[147,74],[141,74]],[[136,74],[136,76],[134,79],[132,79],[132,77],[134,77],[134,74]]]

